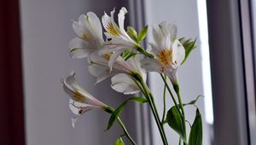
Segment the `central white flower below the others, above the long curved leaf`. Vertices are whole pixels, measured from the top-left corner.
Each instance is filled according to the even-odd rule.
[[[142,67],[140,67],[141,55],[133,56],[127,61],[119,56],[113,63],[112,71],[110,71],[108,67],[109,57],[109,55],[90,55],[89,72],[96,77],[96,83],[113,76],[113,78],[111,78],[111,87],[113,90],[124,93],[125,95],[139,92],[137,84],[131,78],[131,75],[133,73],[139,73],[143,76],[143,80],[146,80],[146,72]]]

